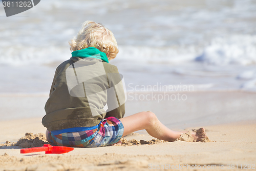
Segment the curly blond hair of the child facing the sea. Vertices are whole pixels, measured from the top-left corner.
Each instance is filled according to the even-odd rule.
[[[95,47],[101,52],[109,52],[109,60],[116,58],[119,52],[114,34],[102,24],[93,21],[84,22],[77,36],[69,41],[69,44],[71,51]]]

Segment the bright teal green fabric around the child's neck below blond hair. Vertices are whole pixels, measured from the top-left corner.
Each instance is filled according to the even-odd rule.
[[[73,51],[71,54],[72,54],[72,57],[96,58],[96,59],[99,59],[99,60],[109,63],[109,60],[108,60],[108,57],[106,56],[106,54],[104,52],[99,51],[99,49],[94,48],[94,47],[76,50],[76,51]]]

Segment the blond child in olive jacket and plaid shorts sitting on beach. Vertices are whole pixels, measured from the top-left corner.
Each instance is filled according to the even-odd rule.
[[[120,138],[146,129],[151,136],[175,141],[184,132],[165,127],[151,111],[124,116],[125,93],[115,59],[118,48],[113,33],[101,24],[84,22],[69,42],[72,58],[55,72],[42,124],[53,145],[99,147],[121,143]],[[206,138],[204,128],[191,136]]]

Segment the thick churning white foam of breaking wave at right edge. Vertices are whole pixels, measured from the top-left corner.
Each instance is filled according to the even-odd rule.
[[[256,64],[256,35],[216,37],[196,58],[207,64]]]

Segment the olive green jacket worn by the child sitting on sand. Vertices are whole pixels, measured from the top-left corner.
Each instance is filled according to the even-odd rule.
[[[77,85],[69,85],[69,77],[66,75],[66,70],[70,68],[73,70],[72,66],[77,65],[74,70],[76,70],[76,74],[78,74],[78,63],[84,61],[87,62],[86,65],[88,67],[86,68],[95,68],[97,65],[103,64],[105,75],[100,75],[95,79],[89,79],[84,82],[79,81],[77,77]],[[98,69],[94,70],[92,74],[97,72]],[[87,70],[84,71],[84,73],[82,72],[82,75],[86,77],[90,73],[91,71],[89,72]],[[114,79],[113,75],[115,75]],[[123,118],[125,113],[124,101],[120,99],[118,94],[122,94],[123,96],[124,91],[120,86],[119,88],[116,87],[116,85],[122,84],[121,80],[122,77],[119,76],[116,66],[99,59],[72,57],[70,60],[63,62],[56,69],[50,89],[50,97],[45,105],[46,115],[42,118],[42,124],[47,127],[49,131],[52,131],[73,127],[95,126],[98,125],[102,119],[108,117]],[[87,90],[84,87],[92,87],[92,90]],[[111,87],[114,96],[111,96],[111,93],[106,91],[106,89],[110,89]],[[81,93],[77,95],[76,93],[81,92],[81,90],[82,95]],[[88,97],[91,96],[91,94],[94,95],[94,98],[90,98],[89,100]],[[110,99],[116,99],[115,101],[118,102],[118,106],[115,107],[114,105],[111,107],[112,104],[109,104]],[[112,110],[105,110],[104,106],[106,105]],[[97,115],[95,115],[95,113],[97,113]]]

